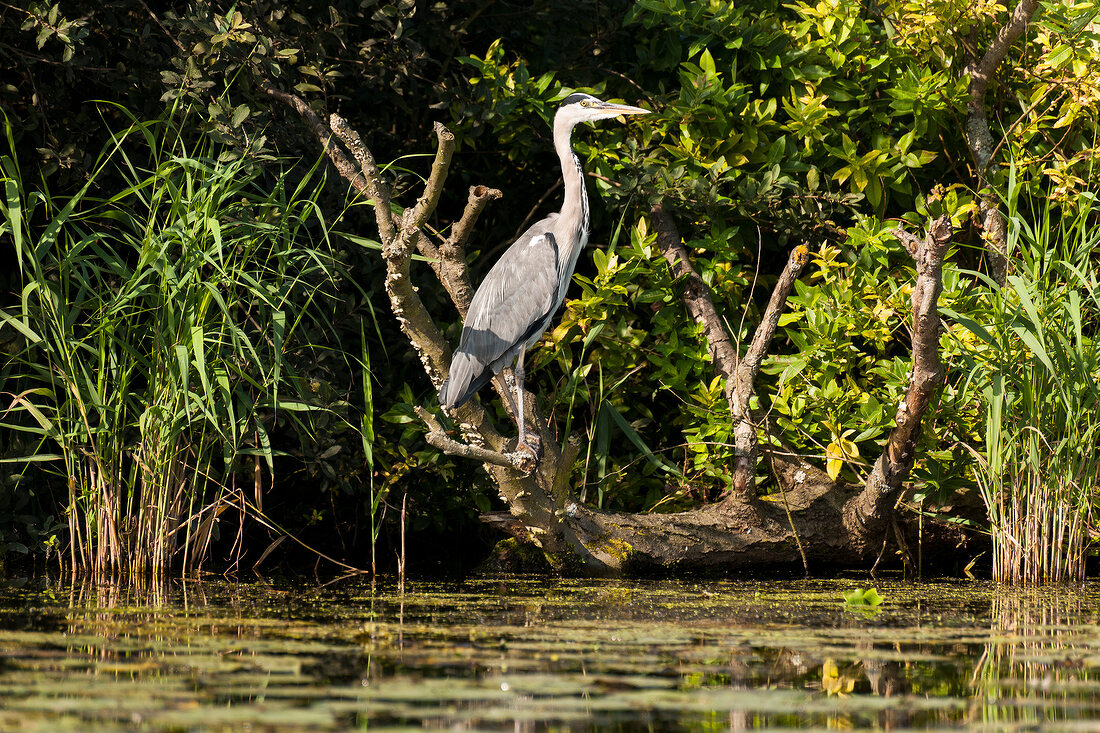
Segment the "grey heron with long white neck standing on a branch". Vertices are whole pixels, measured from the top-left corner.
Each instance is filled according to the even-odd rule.
[[[592,95],[572,94],[553,118],[553,146],[561,162],[565,185],[561,211],[537,221],[512,243],[477,286],[459,348],[451,359],[450,374],[439,390],[439,402],[453,409],[515,362],[516,401],[512,385],[505,394],[519,427],[517,449],[527,444],[524,424],[524,353],[550,326],[565,299],[573,269],[588,241],[588,195],[584,169],[573,153],[570,138],[581,122],[607,120],[620,114],[648,114],[649,110],[615,105]],[[530,446],[538,452],[538,446]]]

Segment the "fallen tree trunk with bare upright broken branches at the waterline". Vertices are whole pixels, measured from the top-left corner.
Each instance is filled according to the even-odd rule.
[[[463,243],[477,215],[498,196],[484,187],[471,189],[466,209],[452,228],[451,238],[436,243],[422,231],[431,215],[450,165],[453,144],[450,133],[437,124],[438,150],[424,194],[415,206],[400,215],[393,212],[391,192],[381,178],[370,152],[359,135],[337,116],[327,127],[294,95],[273,87],[265,89],[289,105],[314,130],[338,172],[374,205],[383,258],[386,293],[405,336],[421,358],[425,371],[438,387],[450,364],[450,346],[424,307],[409,280],[409,256],[414,250],[432,260],[432,269],[460,313],[469,305],[470,286]],[[343,141],[358,163],[337,146],[333,134]],[[678,514],[620,514],[600,512],[582,505],[570,480],[579,447],[560,440],[548,426],[531,395],[526,409],[532,415],[543,447],[537,464],[526,451],[516,451],[515,439],[505,438],[493,425],[479,400],[458,411],[458,430],[463,441],[449,435],[426,409],[419,411],[428,428],[426,439],[440,450],[483,463],[499,489],[510,521],[501,523],[514,536],[540,551],[559,571],[612,575],[680,568],[745,569],[784,564],[822,566],[868,566],[881,554],[891,528],[897,528],[894,505],[912,468],[915,439],[928,401],[942,380],[937,338],[939,319],[936,299],[939,273],[950,222],[932,223],[926,237],[900,232],[913,254],[917,282],[913,298],[913,384],[898,411],[888,450],[864,486],[849,486],[789,451],[768,446],[765,457],[781,502],[757,495],[755,474],[758,435],[762,427],[750,414],[755,381],[768,343],[774,333],[787,295],[806,261],[806,248],[792,252],[752,344],[738,355],[717,315],[705,284],[695,274],[672,217],[658,207],[651,212],[659,244],[684,284],[683,298],[692,317],[703,327],[715,369],[726,379],[726,396],[737,422],[737,464],[733,468],[736,490],[722,501]],[[496,384],[498,394],[506,389]],[[505,401],[507,404],[507,401]],[[954,544],[958,533],[930,534],[939,547]],[[927,544],[925,545],[927,547]]]

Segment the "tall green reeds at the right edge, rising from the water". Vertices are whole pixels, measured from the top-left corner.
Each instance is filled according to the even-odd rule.
[[[1060,212],[1022,212],[1010,185],[1013,274],[994,288],[987,344],[971,372],[987,411],[977,478],[989,512],[993,577],[1085,578],[1100,481],[1100,292],[1094,196]]]

